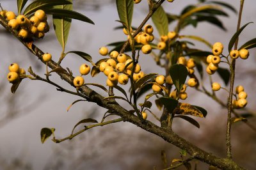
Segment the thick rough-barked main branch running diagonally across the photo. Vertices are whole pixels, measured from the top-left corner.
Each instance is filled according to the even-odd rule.
[[[161,1],[163,3],[163,1]],[[159,4],[160,5],[160,4]],[[3,19],[3,17],[0,16],[0,24],[5,27],[10,33],[12,33],[20,42],[24,44],[25,47],[27,47],[35,56],[38,57],[42,61],[42,50],[38,49],[36,45],[32,43],[26,43],[22,41],[17,36],[17,31],[13,31],[8,27],[8,23],[6,20]],[[44,61],[42,63],[45,64]],[[48,63],[49,68],[52,70],[55,68],[61,68],[56,62],[49,61]],[[70,86],[73,86],[73,79],[74,77],[66,72],[58,72],[58,75],[60,75],[61,79],[68,82]],[[81,86],[81,88],[78,89],[81,94],[88,97],[89,102],[94,102],[98,104],[100,107],[104,107],[106,109],[109,109],[110,111],[113,111],[115,113],[118,113],[118,116],[120,116],[124,121],[128,121],[140,128],[143,128],[144,130],[151,132],[152,134],[156,134],[157,136],[164,139],[164,141],[171,143],[178,148],[181,148],[182,150],[186,150],[191,157],[196,158],[198,160],[201,160],[202,162],[205,162],[207,164],[210,164],[212,166],[219,167],[220,169],[244,169],[243,167],[240,167],[236,164],[236,162],[233,162],[230,159],[227,158],[219,158],[215,155],[212,155],[211,153],[208,153],[204,150],[201,150],[194,144],[189,143],[179,135],[175,134],[171,130],[167,130],[166,128],[161,128],[154,123],[148,121],[148,120],[141,120],[138,118],[138,116],[135,116],[134,114],[131,114],[129,111],[124,109],[122,106],[120,106],[115,100],[113,99],[104,99],[99,93],[96,91],[93,91],[92,89],[88,88],[87,86]]]

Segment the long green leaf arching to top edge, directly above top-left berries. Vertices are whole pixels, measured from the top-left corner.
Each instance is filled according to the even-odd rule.
[[[36,10],[44,10],[55,6],[55,5],[63,5],[63,4],[72,4],[72,2],[67,0],[37,0],[33,3],[29,4],[28,7],[24,10],[23,15],[29,15],[33,12],[36,12]]]

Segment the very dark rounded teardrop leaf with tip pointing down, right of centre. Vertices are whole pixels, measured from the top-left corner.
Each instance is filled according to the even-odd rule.
[[[172,77],[173,84],[177,91],[180,92],[180,89],[182,89],[182,86],[188,76],[188,69],[184,65],[175,64],[171,66],[169,72]]]

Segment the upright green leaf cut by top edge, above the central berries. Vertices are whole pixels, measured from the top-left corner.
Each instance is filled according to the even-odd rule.
[[[119,19],[124,22],[127,29],[130,29],[132,24],[133,4],[132,0],[116,0]]]

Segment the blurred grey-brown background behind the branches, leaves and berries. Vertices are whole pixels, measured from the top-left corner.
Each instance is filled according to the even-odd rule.
[[[226,0],[225,3],[232,4],[237,11],[239,10],[239,0]],[[5,10],[17,13],[16,1],[1,0],[1,6]],[[197,1],[177,0],[174,3],[163,4],[166,12],[179,14],[188,4],[195,4]],[[247,22],[256,22],[255,4],[253,0],[246,0],[241,25]],[[116,12],[115,1],[106,0],[77,0],[74,1],[74,10],[83,13],[95,22],[95,26],[86,24],[78,20],[72,20],[70,35],[65,51],[81,50],[90,54],[96,62],[102,58],[99,47],[111,42],[124,41],[126,36],[122,30],[114,28],[120,26],[118,13]],[[148,12],[147,1],[142,1],[134,6],[134,18],[132,26],[137,27],[145,18]],[[237,15],[225,9],[229,17],[220,17],[227,31],[222,31],[216,26],[207,23],[198,26],[189,26],[182,31],[182,35],[202,36],[211,43],[222,42],[227,54],[227,46],[230,38],[236,32]],[[35,44],[44,52],[52,54],[53,59],[58,61],[61,54],[61,46],[54,35],[54,30],[49,17],[51,31],[45,38],[36,41]],[[152,24],[152,20],[148,21]],[[169,26],[170,31],[175,24]],[[244,29],[239,44],[243,44],[255,38],[256,26],[250,24]],[[157,31],[154,31],[157,35]],[[71,141],[64,141],[56,144],[51,140],[44,144],[40,141],[40,130],[44,127],[56,128],[57,139],[70,135],[76,123],[84,118],[93,118],[100,121],[106,109],[98,107],[96,104],[88,102],[78,102],[67,112],[67,107],[79,99],[56,91],[50,84],[40,81],[24,80],[15,94],[10,91],[11,84],[6,80],[8,65],[19,63],[22,68],[28,69],[32,66],[34,72],[44,75],[45,66],[36,59],[35,56],[17,41],[17,39],[0,27],[0,169],[163,169],[164,164],[161,155],[166,155],[168,165],[173,158],[180,158],[179,148],[166,143],[145,130],[132,125],[131,123],[115,123],[105,127],[97,127],[84,132]],[[202,43],[195,42],[196,47],[202,50],[209,50]],[[109,48],[111,49],[111,48]],[[142,70],[145,73],[164,73],[162,68],[154,66],[154,59],[149,55],[140,58]],[[70,68],[74,75],[79,75],[79,66],[84,60],[69,55],[61,65],[63,68]],[[246,61],[239,59],[236,66],[235,85],[243,85],[248,93],[248,105],[246,108],[250,112],[255,112],[255,49],[250,50],[250,57]],[[224,66],[224,65],[223,65]],[[51,77],[54,82],[66,88],[72,89],[67,83],[61,81],[58,76]],[[102,81],[102,79],[104,81]],[[86,75],[86,82],[97,82],[105,84],[103,75],[93,78]],[[220,82],[225,86],[218,75],[213,76],[214,81]],[[208,86],[207,86],[208,83]],[[205,86],[211,89],[208,80],[205,79]],[[106,95],[104,91],[93,88],[100,94]],[[118,93],[117,93],[118,94]],[[223,101],[227,100],[226,91],[218,91],[218,97]],[[118,101],[126,105],[122,101]],[[154,102],[154,100],[152,100]],[[190,125],[186,121],[175,120],[174,131],[191,143],[200,148],[225,157],[225,125],[226,109],[216,104],[214,100],[198,93],[193,89],[188,91],[188,99],[184,102],[200,105],[208,111],[206,118],[196,118],[200,123],[200,129]],[[129,108],[129,106],[125,106]],[[152,109],[160,116],[160,112]],[[245,111],[243,111],[245,112]],[[248,123],[254,126],[248,127],[246,123],[239,122],[232,127],[232,151],[234,160],[246,169],[256,167],[256,132],[255,132],[255,113]],[[154,117],[148,114],[148,120],[154,121]],[[83,125],[76,130],[82,129]],[[193,160],[192,166],[198,169],[207,169],[207,165]],[[184,169],[180,167],[179,169]]]

